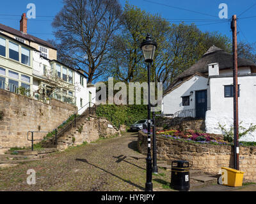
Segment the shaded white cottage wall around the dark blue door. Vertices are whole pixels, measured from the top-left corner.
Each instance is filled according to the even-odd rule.
[[[164,114],[173,114],[179,110],[187,110],[195,108],[195,91],[201,91],[207,89],[207,106],[210,107],[210,93],[209,86],[207,86],[208,78],[194,76],[187,82],[174,89],[172,92],[163,97],[162,112]],[[193,91],[193,95],[190,96],[189,106],[182,106],[182,96],[189,96]],[[192,101],[191,101],[192,99]]]

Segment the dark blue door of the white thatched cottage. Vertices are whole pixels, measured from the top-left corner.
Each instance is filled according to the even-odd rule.
[[[196,91],[196,118],[205,119],[207,111],[207,90]]]

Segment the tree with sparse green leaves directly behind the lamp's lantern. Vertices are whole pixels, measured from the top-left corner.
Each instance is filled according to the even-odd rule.
[[[157,55],[166,45],[169,23],[158,15],[150,15],[129,4],[125,4],[121,22],[120,33],[115,36],[115,49],[109,54],[109,74],[125,82],[145,81],[147,65],[143,63],[140,43],[150,33],[158,45]]]

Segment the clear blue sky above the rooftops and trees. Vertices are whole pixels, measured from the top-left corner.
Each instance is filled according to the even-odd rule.
[[[154,3],[150,3],[147,0],[120,0],[122,6],[124,6],[126,1],[129,4],[133,4],[138,8],[141,8],[142,10],[146,10],[152,14],[157,13],[164,18],[168,18],[170,22],[175,24],[179,24],[179,21],[184,19],[196,19],[194,20],[195,24],[198,25],[200,30],[219,31],[221,34],[226,34],[230,38],[232,36],[230,31],[230,23],[227,22],[227,20],[221,20],[218,18],[218,13],[220,11],[218,8],[219,4],[226,3],[228,5],[228,18],[231,18],[234,14],[239,15],[243,13],[243,11],[246,11],[248,8],[250,8],[250,6],[255,4],[255,6],[250,8],[250,10],[247,10],[245,13],[243,13],[243,15],[241,15],[241,19],[238,20],[237,24],[239,25],[239,34],[237,39],[239,41],[244,40],[250,43],[256,41],[256,17],[244,18],[256,16],[256,0],[148,0]],[[22,13],[27,13],[28,9],[26,6],[28,3],[34,3],[36,5],[36,19],[29,19],[28,33],[44,40],[54,39],[54,36],[51,34],[51,22],[53,17],[58,13],[58,11],[61,10],[63,6],[62,0],[1,1],[0,23],[15,29],[19,29],[20,16]],[[170,6],[182,8],[183,10]],[[192,11],[196,11],[197,13]],[[191,22],[188,22],[188,20],[185,21],[186,24],[190,24],[193,20],[191,20]],[[223,23],[216,24],[216,22]]]

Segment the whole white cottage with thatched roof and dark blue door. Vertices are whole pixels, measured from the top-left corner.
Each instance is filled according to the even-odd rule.
[[[233,125],[233,58],[212,46],[196,64],[184,71],[164,92],[162,113],[205,119],[207,133],[220,134],[219,123]],[[239,122],[256,124],[256,65],[238,59]],[[242,140],[255,141],[256,132]]]

